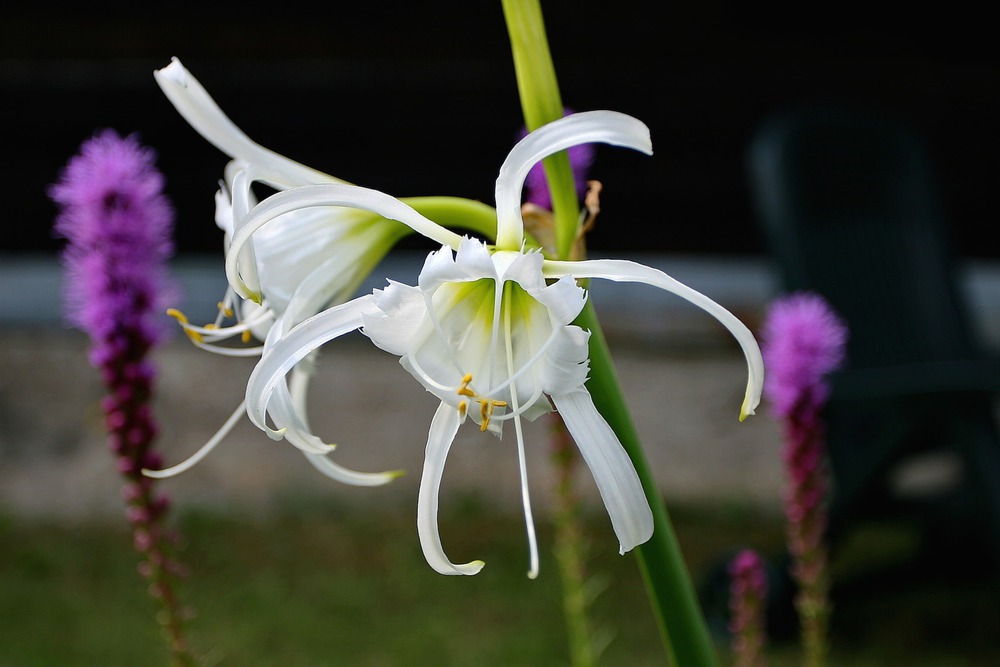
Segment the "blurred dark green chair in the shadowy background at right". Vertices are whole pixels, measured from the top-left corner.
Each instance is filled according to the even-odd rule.
[[[871,113],[791,110],[760,125],[747,168],[782,290],[821,294],[850,329],[825,412],[831,548],[900,521],[920,556],[996,568],[1000,365],[977,340],[918,137]]]

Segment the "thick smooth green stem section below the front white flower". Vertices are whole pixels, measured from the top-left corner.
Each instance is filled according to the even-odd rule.
[[[678,667],[714,667],[717,664],[715,647],[694,585],[663,496],[643,455],[639,435],[611,362],[607,341],[589,301],[577,318],[577,324],[590,330],[590,380],[587,388],[594,397],[597,409],[631,457],[653,511],[653,536],[636,547],[636,551],[671,664]]]

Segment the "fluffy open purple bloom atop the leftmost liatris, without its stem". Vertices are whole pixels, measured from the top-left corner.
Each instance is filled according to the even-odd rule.
[[[69,240],[67,314],[94,340],[95,365],[123,346],[152,345],[165,331],[161,320],[175,295],[166,269],[174,214],[154,160],[136,136],[104,130],[84,142],[49,191],[61,206],[55,230]],[[138,338],[125,341],[125,332]]]

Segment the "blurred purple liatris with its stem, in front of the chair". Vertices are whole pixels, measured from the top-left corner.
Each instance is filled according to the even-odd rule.
[[[818,294],[798,292],[768,311],[762,353],[765,392],[785,439],[785,518],[805,664],[824,664],[829,617],[826,530],[828,481],[822,412],[827,376],[844,361],[848,329]]]

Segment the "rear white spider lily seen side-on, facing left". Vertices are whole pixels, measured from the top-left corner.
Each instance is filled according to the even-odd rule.
[[[303,209],[279,216],[252,238],[233,239],[247,213],[257,205],[254,183],[284,190],[312,183],[344,183],[263,148],[252,141],[219,108],[199,81],[172,59],[154,78],[175,108],[207,141],[232,160],[216,193],[215,222],[224,234],[227,258],[232,254],[241,277],[255,289],[253,298],[240,298],[232,287],[219,302],[215,322],[196,326],[183,313],[169,311],[184,327],[192,342],[212,352],[229,356],[259,356],[266,345],[247,346],[252,338],[265,340],[268,333],[285,331],[331,304],[355,295],[361,283],[392,246],[409,229],[367,211],[353,208]],[[229,323],[235,320],[235,323]],[[232,345],[233,338],[243,345]],[[304,375],[310,364],[296,372]],[[290,397],[282,404],[289,418],[286,438],[303,450],[309,460],[334,479],[355,485],[384,484],[400,473],[359,473],[323,457],[333,445],[313,436],[304,421],[302,407],[292,410]],[[275,409],[279,409],[275,407]],[[189,469],[207,455],[232,430],[245,405],[195,454],[164,470],[146,471],[153,477],[168,477]]]

